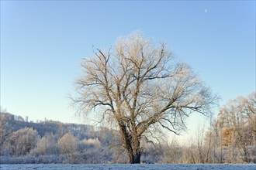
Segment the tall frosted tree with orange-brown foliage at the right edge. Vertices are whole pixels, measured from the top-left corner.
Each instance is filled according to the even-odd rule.
[[[255,145],[256,136],[255,98],[255,92],[248,97],[237,97],[220,109],[218,121],[223,127],[223,145],[230,148],[233,162],[237,160],[236,148],[243,162],[250,162],[248,147]]]

